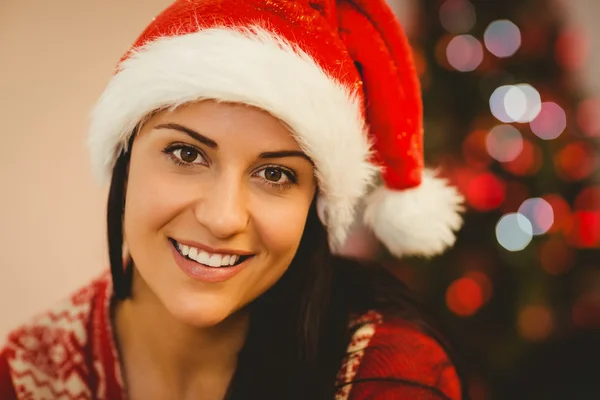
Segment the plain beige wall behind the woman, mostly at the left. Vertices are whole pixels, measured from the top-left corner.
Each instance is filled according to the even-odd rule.
[[[87,116],[115,62],[169,3],[0,0],[0,337],[108,265],[106,188],[90,173]],[[566,3],[600,67],[591,31],[600,2]],[[600,89],[598,69],[587,76]]]

